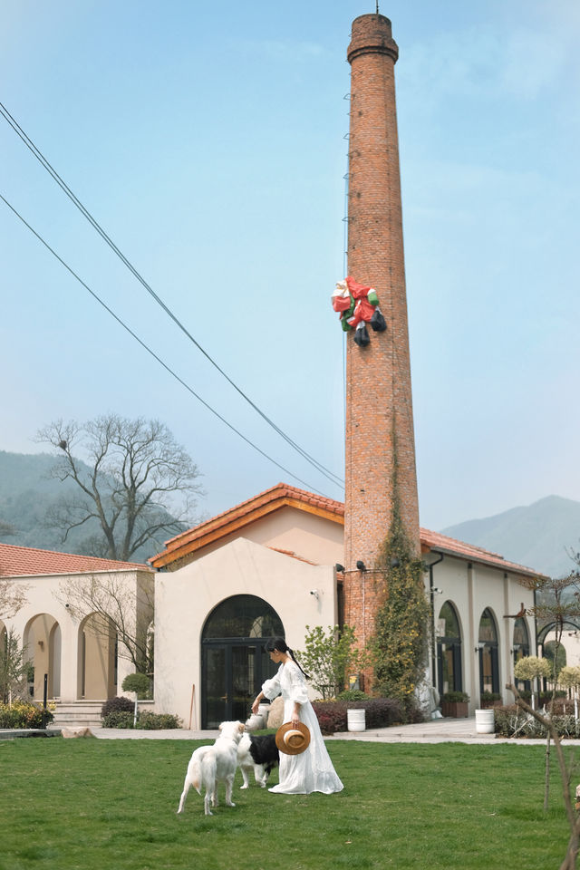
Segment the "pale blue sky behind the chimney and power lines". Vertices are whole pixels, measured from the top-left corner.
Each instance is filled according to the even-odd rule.
[[[0,100],[206,351],[343,473],[350,25],[374,3],[5,0]],[[580,499],[580,5],[381,3],[399,44],[420,521]],[[279,480],[343,498],[211,368],[0,119],[0,449],[50,420],[157,417],[224,510]]]

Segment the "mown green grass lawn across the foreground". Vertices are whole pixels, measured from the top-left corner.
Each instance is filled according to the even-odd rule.
[[[237,807],[205,817],[192,789],[177,816],[195,745],[0,742],[0,870],[546,870],[565,854],[543,747],[331,740],[338,795],[240,791],[238,773]]]

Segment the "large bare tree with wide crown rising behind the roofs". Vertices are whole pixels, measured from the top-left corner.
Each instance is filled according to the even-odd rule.
[[[96,520],[102,536],[86,542],[92,554],[127,562],[140,546],[159,546],[191,524],[195,496],[202,492],[198,467],[159,420],[117,414],[82,425],[57,420],[36,440],[58,451],[53,477],[77,487],[47,517],[62,529],[63,543],[73,528]]]

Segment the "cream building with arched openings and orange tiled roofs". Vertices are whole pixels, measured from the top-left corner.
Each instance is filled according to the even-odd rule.
[[[272,673],[266,639],[304,646],[307,626],[343,621],[343,503],[278,484],[169,540],[145,565],[0,544],[0,578],[22,585],[26,604],[0,622],[22,638],[34,664],[34,697],[102,701],[121,693],[134,667],[113,632],[94,631],[67,608],[67,583],[106,586],[132,601],[130,621],[146,632],[155,597],[155,710],[186,727],[245,719]],[[513,663],[536,650],[526,611],[537,573],[478,546],[420,530],[425,589],[432,603],[430,680],[462,690],[470,710],[482,691],[512,701]],[[361,582],[372,582],[362,577]],[[148,604],[149,602],[149,604]]]

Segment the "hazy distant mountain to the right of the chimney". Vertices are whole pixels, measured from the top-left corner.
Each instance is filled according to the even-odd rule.
[[[580,550],[580,502],[547,496],[528,507],[512,507],[495,517],[469,519],[441,532],[485,546],[510,562],[559,577],[575,566],[566,550]]]

